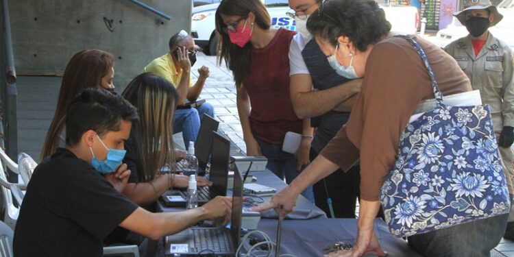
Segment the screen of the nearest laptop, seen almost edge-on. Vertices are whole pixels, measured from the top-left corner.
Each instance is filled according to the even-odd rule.
[[[234,188],[232,189],[232,220],[230,221],[230,235],[234,243],[239,245],[241,233],[241,215],[243,212],[243,180],[236,168],[234,171]]]

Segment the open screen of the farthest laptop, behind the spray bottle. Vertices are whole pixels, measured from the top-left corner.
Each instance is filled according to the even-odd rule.
[[[218,131],[219,121],[204,114],[201,117],[200,130],[195,143],[195,156],[198,158],[199,171],[205,171],[212,145],[212,132]]]

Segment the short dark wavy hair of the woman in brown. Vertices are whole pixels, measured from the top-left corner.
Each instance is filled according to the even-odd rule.
[[[309,17],[307,29],[334,46],[339,36],[348,36],[359,51],[366,51],[391,31],[391,23],[374,0],[330,0]]]

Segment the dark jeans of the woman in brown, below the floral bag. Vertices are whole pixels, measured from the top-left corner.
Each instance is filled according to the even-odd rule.
[[[408,237],[423,256],[490,256],[505,232],[508,214]]]

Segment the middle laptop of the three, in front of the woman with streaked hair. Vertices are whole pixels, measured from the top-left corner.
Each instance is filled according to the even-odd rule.
[[[230,158],[230,140],[219,132],[212,133],[212,162],[210,181],[212,186],[201,186],[197,190],[198,205],[201,206],[218,195],[227,195],[228,162]],[[167,207],[186,207],[187,188],[167,191],[161,197]]]

